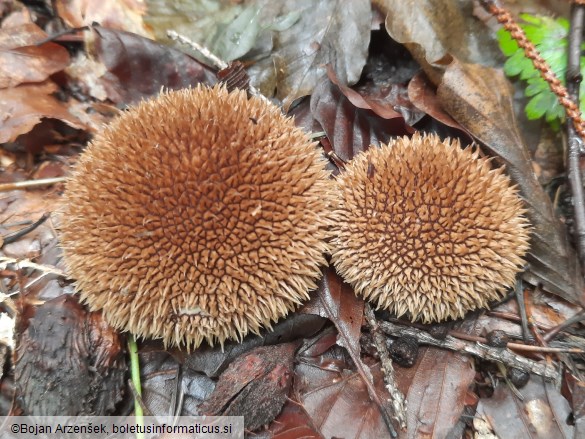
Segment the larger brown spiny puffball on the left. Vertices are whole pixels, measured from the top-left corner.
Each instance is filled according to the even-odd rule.
[[[329,251],[332,181],[274,105],[216,86],[162,93],[99,133],[59,212],[81,298],[121,330],[197,347],[294,310]]]

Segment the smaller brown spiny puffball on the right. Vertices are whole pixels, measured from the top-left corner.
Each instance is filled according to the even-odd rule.
[[[332,260],[356,293],[413,321],[500,299],[529,225],[503,168],[457,140],[415,134],[356,156],[337,178]]]

